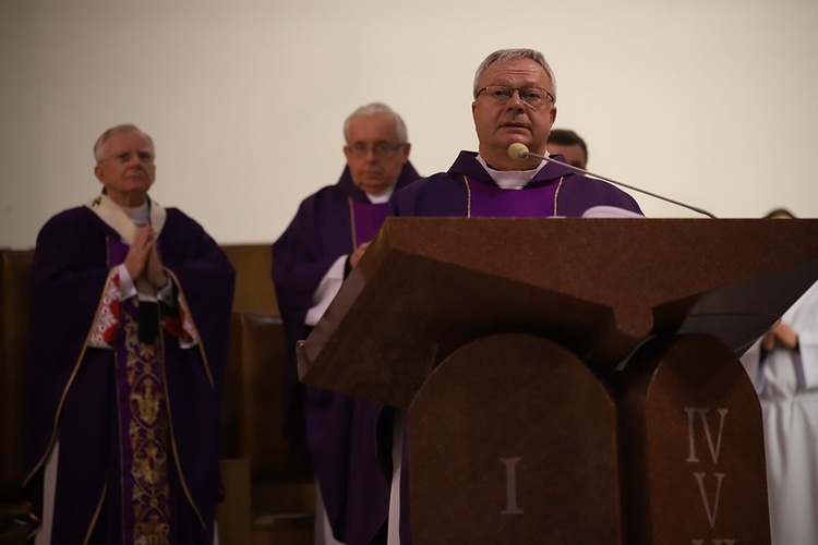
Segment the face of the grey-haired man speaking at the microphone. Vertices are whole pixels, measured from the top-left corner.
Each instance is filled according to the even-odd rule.
[[[531,59],[509,59],[489,65],[480,78],[479,88],[486,85],[507,85],[516,89],[538,87],[553,95],[545,70]],[[556,119],[556,107],[545,100],[537,109],[526,104],[518,92],[505,104],[497,104],[488,93],[471,105],[474,129],[480,141],[480,155],[495,168],[519,168],[509,162],[508,146],[520,142],[534,154],[543,155],[551,125]]]

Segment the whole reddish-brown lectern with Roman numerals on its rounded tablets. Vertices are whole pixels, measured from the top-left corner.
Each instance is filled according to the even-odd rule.
[[[408,408],[414,543],[769,543],[737,355],[817,280],[818,220],[388,218],[299,373]]]

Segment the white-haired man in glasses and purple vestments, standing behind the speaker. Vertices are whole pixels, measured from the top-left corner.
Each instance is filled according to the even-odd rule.
[[[409,162],[406,125],[380,102],[344,125],[347,166],[335,185],[306,197],[273,244],[273,282],[288,340],[286,431],[309,456],[318,485],[316,543],[385,543],[389,482],[378,464],[375,426],[390,409],[305,387],[296,342],[306,338],[387,215],[394,191],[419,177]],[[326,535],[325,535],[326,534]]]

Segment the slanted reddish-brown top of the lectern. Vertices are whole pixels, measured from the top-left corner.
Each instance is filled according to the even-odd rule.
[[[655,335],[741,353],[818,280],[818,220],[387,218],[310,337],[310,385],[408,405],[488,335],[613,370]]]

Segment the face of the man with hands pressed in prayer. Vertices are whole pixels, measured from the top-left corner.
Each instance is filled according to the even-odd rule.
[[[103,159],[94,173],[111,201],[120,206],[139,206],[156,177],[154,148],[139,131],[115,134],[103,144]]]

